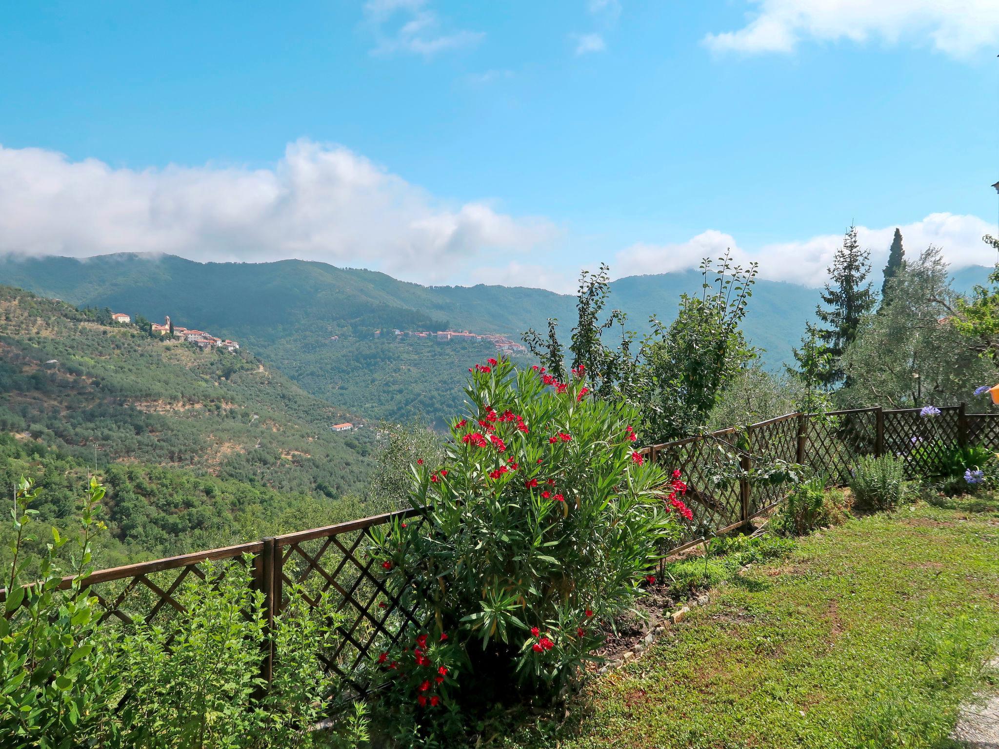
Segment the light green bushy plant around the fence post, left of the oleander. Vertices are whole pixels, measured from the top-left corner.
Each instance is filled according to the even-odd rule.
[[[245,561],[249,562],[249,559]],[[263,594],[250,565],[206,565],[205,580],[185,580],[183,611],[166,625],[139,625],[122,638],[121,668],[130,691],[118,711],[126,746],[318,747],[367,740],[364,716],[349,730],[309,730],[338,691],[319,653],[335,644],[342,614],[301,586],[274,619],[270,686],[261,678],[267,633]],[[312,596],[310,596],[312,597]],[[359,731],[360,729],[360,731]],[[345,737],[343,734],[347,734]]]

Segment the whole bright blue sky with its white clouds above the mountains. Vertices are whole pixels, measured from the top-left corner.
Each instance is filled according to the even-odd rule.
[[[996,221],[999,4],[940,5],[5,4],[0,250],[308,257],[565,288],[580,266],[673,270],[734,245],[764,276],[810,282],[855,221],[875,259],[898,225],[980,261],[969,238]],[[330,154],[346,160],[336,184],[303,187]],[[137,194],[162,213],[170,190],[189,206],[171,231],[116,223]],[[299,208],[255,225],[241,212],[275,210],[261,191]],[[235,205],[191,208],[218,192]],[[315,214],[345,192],[338,234]],[[87,221],[100,226],[81,233]],[[802,254],[805,270],[784,267]]]

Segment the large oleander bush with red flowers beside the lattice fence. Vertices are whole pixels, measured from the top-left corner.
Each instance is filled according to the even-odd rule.
[[[477,365],[443,463],[414,466],[423,521],[373,528],[387,585],[424,612],[432,641],[449,632],[465,649],[480,696],[570,677],[688,511],[678,474],[670,501],[669,476],[635,450],[636,410],[591,397],[582,369],[563,383]]]

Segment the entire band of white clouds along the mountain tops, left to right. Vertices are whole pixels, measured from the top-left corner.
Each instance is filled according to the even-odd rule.
[[[859,228],[876,270],[894,225]],[[981,241],[994,226],[931,214],[901,227],[914,254],[937,245],[955,268],[992,265]],[[269,169],[132,170],[74,162],[37,148],[0,146],[0,254],[89,257],[168,253],[196,261],[297,258],[384,271],[424,284],[492,283],[571,293],[577,269],[600,258],[565,250],[571,233],[543,217],[503,213],[488,201],[452,203],[349,149],[300,140]],[[761,278],[818,286],[842,234],[743,248],[709,229],[684,242],[608,248],[615,277],[696,268],[731,248]],[[568,258],[569,260],[566,260]]]

